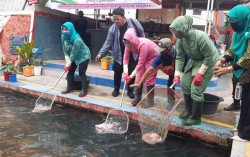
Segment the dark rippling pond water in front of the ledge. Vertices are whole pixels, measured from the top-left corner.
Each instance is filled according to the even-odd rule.
[[[141,140],[138,125],[123,135],[97,134],[106,115],[54,104],[31,113],[37,97],[0,88],[0,156],[228,157],[230,148],[168,134],[162,144]]]

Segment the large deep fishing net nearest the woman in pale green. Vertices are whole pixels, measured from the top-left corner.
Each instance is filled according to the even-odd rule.
[[[163,142],[173,112],[181,101],[171,88],[153,88],[136,106],[142,140],[148,144]]]

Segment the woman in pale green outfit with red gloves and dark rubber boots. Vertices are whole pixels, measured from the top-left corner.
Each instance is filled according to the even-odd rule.
[[[213,77],[213,67],[218,60],[218,51],[209,36],[192,28],[191,16],[179,16],[169,26],[177,38],[174,82],[180,82],[185,56],[190,59],[181,78],[185,110],[180,114],[183,125],[199,125],[204,102],[203,92]]]

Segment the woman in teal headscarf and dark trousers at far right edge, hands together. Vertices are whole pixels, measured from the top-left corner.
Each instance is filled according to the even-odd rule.
[[[234,30],[231,47],[214,67],[217,77],[233,72],[242,84],[241,112],[237,126],[238,135],[233,139],[250,140],[250,8],[238,5],[231,9],[227,17]],[[225,62],[233,61],[232,66],[222,68]]]

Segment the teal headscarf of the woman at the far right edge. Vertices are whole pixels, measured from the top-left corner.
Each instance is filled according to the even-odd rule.
[[[227,17],[238,23],[240,32],[235,32],[233,35],[232,50],[235,54],[234,64],[244,56],[247,51],[247,40],[250,38],[250,8],[246,5],[238,5],[231,9]],[[234,71],[237,78],[243,73],[244,69]]]

